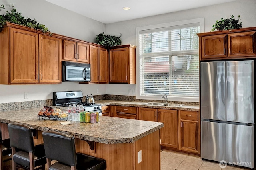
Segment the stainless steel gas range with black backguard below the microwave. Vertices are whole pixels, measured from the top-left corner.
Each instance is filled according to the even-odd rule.
[[[96,103],[82,102],[82,91],[53,92],[53,105],[68,107],[69,104],[83,105],[85,111],[97,111],[102,113],[101,105]]]

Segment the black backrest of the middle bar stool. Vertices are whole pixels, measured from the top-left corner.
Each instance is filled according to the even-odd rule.
[[[11,147],[15,147],[26,152],[34,152],[34,140],[31,127],[17,123],[9,123],[8,131]]]

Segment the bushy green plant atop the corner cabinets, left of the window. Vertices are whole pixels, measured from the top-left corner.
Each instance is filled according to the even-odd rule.
[[[116,45],[121,45],[120,37],[122,34],[120,33],[119,37],[112,35],[105,35],[104,32],[100,33],[96,36],[96,42],[100,45],[104,45],[106,47],[113,47]]]

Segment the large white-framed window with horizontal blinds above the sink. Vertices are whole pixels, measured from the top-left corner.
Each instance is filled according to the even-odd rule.
[[[137,98],[156,99],[165,93],[172,101],[199,101],[200,21],[137,28]]]

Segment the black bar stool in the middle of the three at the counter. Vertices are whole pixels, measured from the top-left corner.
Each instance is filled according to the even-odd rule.
[[[44,164],[46,164],[44,144],[34,145],[32,128],[9,123],[8,131],[12,147],[12,170],[16,170],[16,163],[27,166],[30,170],[34,170],[36,166],[42,166],[44,170]]]

